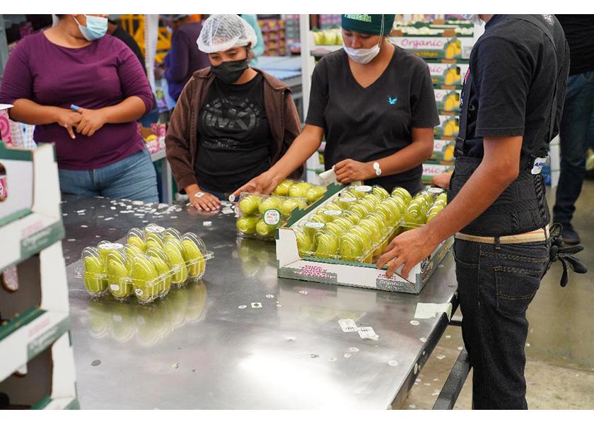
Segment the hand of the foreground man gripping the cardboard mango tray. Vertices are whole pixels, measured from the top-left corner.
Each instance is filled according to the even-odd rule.
[[[431,241],[433,237],[429,234],[427,227],[420,227],[414,230],[403,232],[401,235],[395,237],[388,249],[378,260],[378,269],[382,269],[385,264],[392,261],[388,266],[388,271],[385,275],[392,278],[394,272],[404,264],[400,276],[408,278],[410,270],[413,266],[419,264],[420,261],[429,257],[433,250],[436,249],[439,242]]]

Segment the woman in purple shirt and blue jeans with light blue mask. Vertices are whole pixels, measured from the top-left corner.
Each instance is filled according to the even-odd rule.
[[[0,103],[55,143],[62,192],[158,201],[156,173],[136,119],[153,107],[132,50],[107,31],[107,15],[58,15],[8,58]],[[74,105],[74,106],[73,106]]]

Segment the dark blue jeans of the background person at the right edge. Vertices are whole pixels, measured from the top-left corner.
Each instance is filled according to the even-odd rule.
[[[561,118],[561,173],[553,221],[571,223],[586,176],[588,131],[594,110],[594,71],[572,75],[567,80],[563,117]]]

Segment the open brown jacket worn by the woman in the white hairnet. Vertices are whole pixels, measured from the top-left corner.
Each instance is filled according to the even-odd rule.
[[[264,109],[273,141],[270,163],[274,164],[301,133],[301,124],[289,87],[260,69],[254,70],[264,77]],[[194,72],[177,100],[165,136],[167,160],[180,192],[190,184],[199,184],[194,173],[199,143],[198,119],[214,78],[209,68]],[[303,167],[300,167],[291,177],[301,177],[302,173]]]

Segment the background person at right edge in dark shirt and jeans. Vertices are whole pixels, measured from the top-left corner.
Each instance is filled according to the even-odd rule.
[[[586,176],[588,130],[594,110],[594,15],[557,15],[557,19],[569,43],[571,67],[561,119],[561,174],[553,220],[563,225],[564,242],[576,245],[580,237],[571,218]]]

